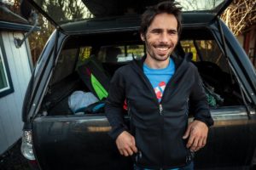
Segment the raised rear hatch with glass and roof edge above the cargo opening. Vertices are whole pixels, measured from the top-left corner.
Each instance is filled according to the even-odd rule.
[[[29,2],[60,30],[74,33],[94,31],[97,27],[98,30],[134,28],[139,26],[143,11],[159,3],[160,0],[65,0],[61,3],[57,0],[29,0]],[[212,22],[232,0],[176,0],[175,2],[183,8],[183,24],[186,25]]]

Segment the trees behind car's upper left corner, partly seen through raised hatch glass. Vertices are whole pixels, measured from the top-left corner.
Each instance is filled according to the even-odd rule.
[[[38,6],[44,8],[44,11],[46,11],[49,16],[54,16],[58,22],[92,17],[89,10],[84,8],[81,1],[38,0],[37,3]],[[41,54],[45,42],[47,42],[49,36],[55,30],[55,26],[53,26],[41,14],[38,15],[38,23],[38,25],[41,27],[40,31],[34,32],[32,36],[29,37],[33,63],[38,60],[39,54]]]

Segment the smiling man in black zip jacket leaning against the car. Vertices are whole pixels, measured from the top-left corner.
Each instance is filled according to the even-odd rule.
[[[148,8],[141,38],[146,56],[115,72],[106,105],[110,135],[135,169],[193,169],[193,152],[207,143],[213,124],[195,65],[170,57],[181,31],[180,8],[171,1]],[[130,128],[122,106],[127,101]],[[189,111],[195,120],[188,126]]]

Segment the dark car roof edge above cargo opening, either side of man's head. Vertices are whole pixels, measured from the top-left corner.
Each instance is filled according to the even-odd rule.
[[[183,13],[183,26],[205,26],[215,19],[214,14]],[[140,26],[140,16],[108,17],[104,19],[90,19],[70,22],[61,25],[64,31],[72,33],[97,33],[116,31],[137,31]]]

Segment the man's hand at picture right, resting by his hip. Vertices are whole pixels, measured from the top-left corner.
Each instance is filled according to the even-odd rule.
[[[207,134],[207,124],[195,120],[194,122],[189,123],[189,127],[187,128],[183,139],[187,139],[189,137],[187,148],[190,148],[191,151],[197,151],[207,144]]]

